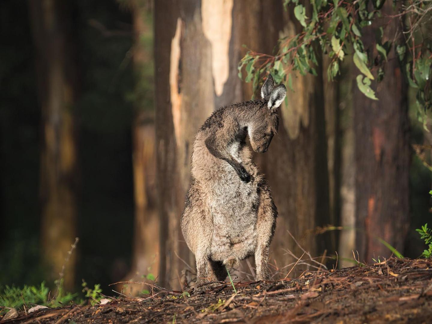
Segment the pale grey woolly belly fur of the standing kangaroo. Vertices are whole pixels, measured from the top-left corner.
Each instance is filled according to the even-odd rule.
[[[257,179],[245,183],[230,165],[223,165],[212,183],[208,203],[213,217],[213,260],[236,263],[253,254],[256,246]]]

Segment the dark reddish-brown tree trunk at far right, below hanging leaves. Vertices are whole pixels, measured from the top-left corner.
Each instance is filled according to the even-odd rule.
[[[387,1],[383,14],[391,15]],[[388,18],[383,42],[393,41],[398,28]],[[364,35],[365,47],[375,50],[372,29]],[[354,132],[356,161],[356,249],[360,260],[388,257],[391,251],[382,238],[403,252],[409,226],[409,164],[407,86],[400,64],[392,49],[385,64],[385,76],[377,85],[379,101],[366,98],[354,85]],[[355,81],[354,81],[355,82]]]

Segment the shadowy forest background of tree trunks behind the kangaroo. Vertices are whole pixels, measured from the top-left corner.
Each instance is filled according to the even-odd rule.
[[[389,0],[382,8],[397,14]],[[85,281],[129,296],[149,292],[108,285],[192,282],[180,216],[194,135],[217,108],[259,95],[267,70],[245,55],[270,57],[303,22],[282,0],[0,1],[0,294],[61,281],[82,295]],[[377,51],[372,27],[365,52],[368,41]],[[419,120],[398,52],[378,51],[378,100],[357,86],[350,53],[334,80],[324,54],[314,75],[280,79],[279,131],[254,154],[279,211],[272,279],[299,259],[290,276],[319,270],[313,260],[343,268],[426,248],[416,229],[430,223],[430,118]],[[253,280],[253,258],[232,277]]]

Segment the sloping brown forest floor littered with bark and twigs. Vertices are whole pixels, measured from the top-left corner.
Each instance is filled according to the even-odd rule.
[[[299,278],[221,284],[206,293],[153,288],[147,298],[19,313],[9,323],[432,323],[432,260],[391,258]]]

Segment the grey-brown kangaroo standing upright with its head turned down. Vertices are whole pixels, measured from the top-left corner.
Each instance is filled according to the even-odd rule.
[[[269,279],[277,209],[245,139],[249,137],[255,152],[267,151],[279,126],[277,108],[286,87],[275,87],[269,75],[261,96],[219,108],[195,136],[181,229],[195,255],[197,286],[225,280],[225,267],[230,270],[251,255],[256,280]]]

